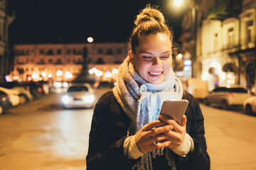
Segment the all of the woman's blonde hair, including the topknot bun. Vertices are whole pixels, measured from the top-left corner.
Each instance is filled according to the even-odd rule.
[[[130,50],[135,53],[135,47],[139,45],[139,38],[142,35],[156,35],[157,33],[169,35],[171,43],[173,42],[173,31],[167,26],[163,13],[156,7],[147,5],[134,21],[134,29],[129,39]]]

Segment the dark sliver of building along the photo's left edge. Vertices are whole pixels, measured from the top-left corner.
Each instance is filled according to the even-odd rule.
[[[7,0],[0,1],[0,82],[9,72],[8,27],[14,21],[14,15],[7,15]]]

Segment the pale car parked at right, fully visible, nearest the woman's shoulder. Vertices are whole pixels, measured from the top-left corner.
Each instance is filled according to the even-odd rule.
[[[230,106],[242,106],[249,97],[247,89],[242,87],[217,87],[207,94],[203,103],[207,106],[210,103],[220,104],[223,109],[228,109]]]

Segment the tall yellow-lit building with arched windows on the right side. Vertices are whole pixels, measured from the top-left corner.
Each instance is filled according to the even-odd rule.
[[[196,77],[215,86],[240,85],[255,89],[256,70],[256,1],[202,0],[195,4],[196,19],[191,13],[183,19],[183,53],[193,58],[196,40]],[[193,24],[196,23],[196,38]],[[191,52],[192,51],[192,52]]]

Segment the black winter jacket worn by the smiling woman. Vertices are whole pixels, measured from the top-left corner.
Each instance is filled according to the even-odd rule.
[[[186,157],[173,154],[178,170],[208,170],[210,157],[206,151],[206,138],[203,125],[203,115],[198,102],[188,92],[183,92],[183,99],[188,99],[186,110],[186,132],[193,138],[194,150]],[[112,91],[108,91],[95,105],[90,130],[89,149],[86,157],[87,170],[102,169],[132,169],[140,159],[127,159],[124,156],[123,144],[127,137],[127,130],[131,120],[124,113],[114,98]],[[153,158],[152,158],[153,159]],[[152,160],[154,169],[170,169],[165,156]]]

